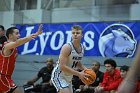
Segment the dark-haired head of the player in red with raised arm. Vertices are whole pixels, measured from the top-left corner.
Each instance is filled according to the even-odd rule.
[[[6,31],[6,36],[8,39],[16,41],[20,37],[19,30],[16,27],[10,27]]]

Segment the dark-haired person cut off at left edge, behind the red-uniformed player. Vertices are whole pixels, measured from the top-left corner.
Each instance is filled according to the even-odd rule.
[[[0,25],[0,50],[2,49],[3,43],[7,41],[5,36],[5,29],[4,26]]]

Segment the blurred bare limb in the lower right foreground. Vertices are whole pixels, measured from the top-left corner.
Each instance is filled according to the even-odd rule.
[[[128,71],[127,76],[122,81],[118,88],[117,93],[133,93],[136,88],[136,81],[140,75],[140,44],[138,46],[136,57],[134,58],[133,64]]]

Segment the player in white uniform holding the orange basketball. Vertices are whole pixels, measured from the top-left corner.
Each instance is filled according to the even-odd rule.
[[[80,43],[82,38],[82,28],[79,25],[72,27],[72,42],[63,45],[58,63],[52,72],[51,80],[59,93],[73,93],[72,77],[78,76],[85,80],[88,75],[74,70],[75,67],[81,70],[86,69],[81,64],[84,55],[84,46]]]

